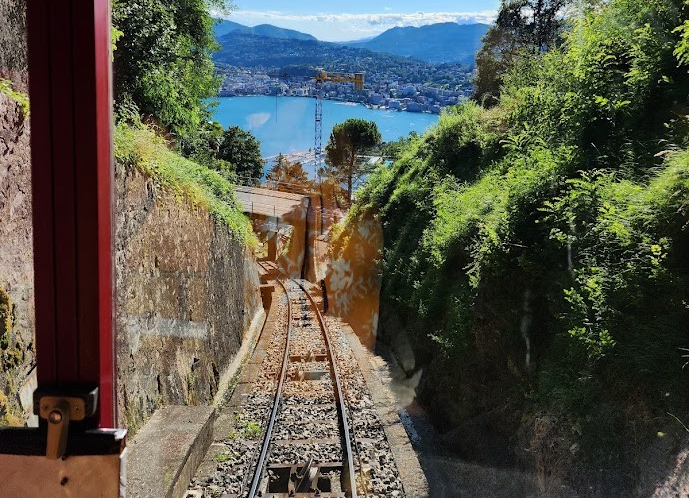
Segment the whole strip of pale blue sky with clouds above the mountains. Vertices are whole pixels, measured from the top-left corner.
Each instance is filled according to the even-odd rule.
[[[296,29],[323,41],[350,41],[395,26],[491,23],[500,0],[234,0],[234,4],[236,9],[221,17],[247,26]]]

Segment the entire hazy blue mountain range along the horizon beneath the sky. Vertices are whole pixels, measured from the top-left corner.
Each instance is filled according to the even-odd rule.
[[[250,28],[232,21],[222,20],[215,25],[215,35],[218,42],[223,46],[221,50],[224,56],[218,60],[227,59],[230,51],[243,51],[250,45],[253,49],[258,46],[262,49],[268,48],[265,42],[257,43],[246,35],[259,36],[281,40],[279,52],[283,55],[291,51],[291,42],[311,42],[314,45],[303,46],[302,43],[295,43],[292,47],[294,55],[305,54],[310,50],[316,51],[337,51],[334,47],[351,47],[354,49],[365,49],[371,52],[382,52],[403,57],[431,62],[431,63],[455,63],[470,66],[474,63],[476,51],[481,48],[481,38],[488,30],[486,24],[457,24],[440,23],[427,26],[392,28],[380,35],[365,40],[329,43],[318,41],[315,37],[301,33],[299,31],[278,28],[270,24],[261,24]],[[317,44],[317,45],[316,45]],[[269,44],[268,44],[269,45]],[[237,54],[242,56],[241,54]],[[256,53],[256,57],[267,56],[275,58],[278,54]],[[236,59],[236,57],[229,57]],[[229,60],[225,60],[231,63]]]

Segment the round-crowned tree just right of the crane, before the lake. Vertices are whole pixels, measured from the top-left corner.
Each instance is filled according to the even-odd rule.
[[[329,173],[340,182],[347,183],[347,199],[352,200],[354,179],[367,172],[364,164],[357,161],[357,156],[366,149],[378,145],[381,141],[378,126],[373,121],[352,118],[336,124],[330,133],[325,147],[326,161],[330,166]]]

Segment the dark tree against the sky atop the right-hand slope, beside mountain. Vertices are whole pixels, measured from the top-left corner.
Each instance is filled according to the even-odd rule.
[[[495,105],[503,75],[519,58],[545,52],[561,41],[563,9],[574,0],[502,0],[495,26],[476,54],[474,100]]]

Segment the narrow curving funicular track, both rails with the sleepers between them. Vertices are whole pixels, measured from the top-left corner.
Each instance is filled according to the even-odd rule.
[[[282,364],[250,498],[356,498],[347,407],[328,329],[306,287],[262,262],[287,296]],[[360,467],[360,466],[359,466]],[[248,476],[247,476],[248,477]],[[247,482],[248,484],[248,482]]]

